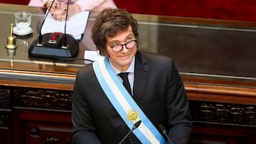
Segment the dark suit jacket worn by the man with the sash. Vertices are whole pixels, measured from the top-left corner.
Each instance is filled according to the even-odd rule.
[[[170,57],[137,52],[134,100],[158,128],[163,125],[172,143],[187,143],[192,121],[183,82]],[[129,128],[102,91],[92,65],[82,67],[73,91],[75,143],[119,143]],[[124,143],[140,143],[131,133]]]

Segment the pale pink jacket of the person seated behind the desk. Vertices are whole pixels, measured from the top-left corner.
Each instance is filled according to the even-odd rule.
[[[31,0],[28,6],[44,6],[48,0]],[[68,0],[55,0],[68,2]],[[113,0],[70,0],[70,4],[78,4],[82,11],[102,11],[105,8],[117,8]]]

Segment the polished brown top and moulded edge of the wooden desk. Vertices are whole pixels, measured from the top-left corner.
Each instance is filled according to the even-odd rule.
[[[9,4],[0,4],[0,9],[1,18],[6,20],[0,21],[0,43],[3,45],[0,83],[23,87],[44,85],[53,89],[65,86],[72,90],[75,73],[87,62],[28,56],[28,48],[37,38],[45,9]],[[16,35],[18,48],[12,55],[4,45],[16,11],[32,13],[34,31],[30,35]],[[95,50],[90,28],[96,15],[91,12],[78,58],[84,57],[85,50]],[[139,22],[139,50],[174,57],[189,99],[256,104],[256,23],[141,14],[134,14],[134,17]],[[214,95],[201,97],[194,92]]]

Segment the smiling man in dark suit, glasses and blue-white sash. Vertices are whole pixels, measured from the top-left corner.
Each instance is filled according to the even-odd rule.
[[[92,40],[105,60],[78,71],[75,143],[188,143],[191,115],[174,60],[139,52],[138,36],[138,23],[127,11],[105,9],[97,16]],[[120,72],[128,72],[129,82]]]

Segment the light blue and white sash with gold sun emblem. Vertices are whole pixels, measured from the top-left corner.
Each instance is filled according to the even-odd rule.
[[[122,82],[112,71],[107,57],[92,63],[93,70],[103,91],[114,108],[132,130],[134,123],[142,121],[137,129],[132,131],[142,143],[166,143],[163,136],[149,121],[142,109],[129,95]]]

